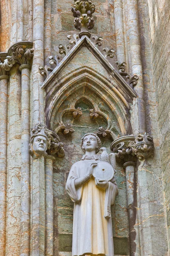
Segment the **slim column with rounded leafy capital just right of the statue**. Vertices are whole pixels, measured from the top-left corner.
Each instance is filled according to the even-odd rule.
[[[126,172],[127,209],[129,217],[130,256],[140,256],[139,221],[136,199],[136,155],[135,137],[123,136],[113,141],[111,150],[116,160],[123,164]]]

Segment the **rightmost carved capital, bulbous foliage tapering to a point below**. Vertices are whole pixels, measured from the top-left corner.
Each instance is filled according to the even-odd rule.
[[[138,157],[139,161],[144,161],[142,166],[150,166],[150,164],[147,162],[147,159],[153,156],[153,137],[144,132],[142,134],[137,134],[135,136],[135,141],[136,157]]]

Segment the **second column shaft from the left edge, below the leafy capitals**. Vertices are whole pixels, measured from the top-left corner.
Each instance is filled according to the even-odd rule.
[[[20,255],[21,75],[11,68],[9,84],[6,255]]]

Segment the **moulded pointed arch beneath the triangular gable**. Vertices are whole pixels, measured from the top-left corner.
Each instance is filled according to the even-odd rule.
[[[81,87],[87,87],[89,91],[94,92],[113,111],[120,126],[121,136],[132,133],[129,114],[130,97],[127,97],[125,93],[123,94],[119,86],[116,86],[114,80],[109,81],[108,78],[105,78],[89,67],[81,67],[68,73],[67,76],[63,76],[55,83],[53,87],[48,88],[46,92],[45,114],[49,128],[53,129],[54,116],[62,102],[70,98],[72,94],[76,94],[79,97],[79,89]],[[87,97],[90,102],[94,102],[90,94],[84,95],[84,97]]]

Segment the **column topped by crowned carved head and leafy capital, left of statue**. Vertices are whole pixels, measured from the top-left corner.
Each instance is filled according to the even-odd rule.
[[[31,255],[53,255],[52,161],[54,157],[51,155],[63,156],[62,143],[59,142],[57,134],[43,125],[36,125],[31,131],[29,152],[32,156]]]

